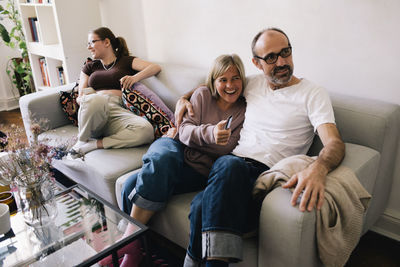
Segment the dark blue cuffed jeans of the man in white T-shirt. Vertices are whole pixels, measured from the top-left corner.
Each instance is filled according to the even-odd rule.
[[[261,165],[261,166],[260,166]],[[185,266],[198,266],[202,259],[242,259],[243,233],[258,224],[259,206],[253,201],[253,184],[267,166],[225,155],[212,166],[207,187],[191,204],[190,243]]]

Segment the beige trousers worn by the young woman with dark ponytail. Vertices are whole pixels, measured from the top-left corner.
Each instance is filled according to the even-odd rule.
[[[86,88],[89,89],[89,88]],[[153,126],[122,106],[119,96],[85,94],[80,98],[78,140],[103,138],[104,148],[134,147],[153,141]]]

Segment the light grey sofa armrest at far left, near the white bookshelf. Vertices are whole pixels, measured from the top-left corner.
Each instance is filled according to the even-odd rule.
[[[75,83],[71,83],[24,95],[19,99],[21,116],[29,141],[32,141],[30,126],[33,119],[35,121],[45,119],[47,121],[47,130],[70,124],[67,116],[61,109],[59,92],[71,90],[74,86]]]

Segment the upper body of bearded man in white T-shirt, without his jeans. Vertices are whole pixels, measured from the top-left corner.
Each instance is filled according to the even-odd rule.
[[[272,167],[279,160],[306,154],[317,132],[324,145],[318,159],[284,185],[295,187],[291,204],[299,209],[320,209],[327,173],[344,157],[344,143],[335,125],[326,90],[293,75],[292,46],[280,29],[258,33],[252,42],[253,64],[263,74],[249,79],[247,110],[238,146],[233,154]]]

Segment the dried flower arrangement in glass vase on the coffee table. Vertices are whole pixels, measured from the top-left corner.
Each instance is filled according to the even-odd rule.
[[[30,225],[42,226],[44,218],[52,218],[54,192],[51,188],[54,178],[51,173],[52,160],[67,154],[70,145],[54,148],[48,140],[38,140],[46,121],[32,123],[30,128],[33,142],[28,143],[22,127],[2,127],[6,134],[0,138],[5,145],[4,157],[0,157],[0,184],[11,185],[20,199],[20,208],[25,221]],[[17,202],[18,203],[18,202]]]

